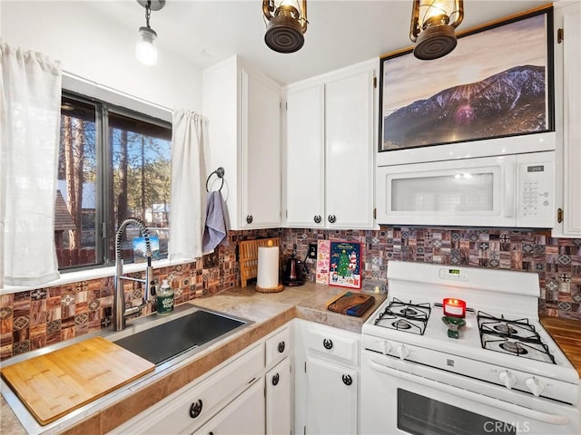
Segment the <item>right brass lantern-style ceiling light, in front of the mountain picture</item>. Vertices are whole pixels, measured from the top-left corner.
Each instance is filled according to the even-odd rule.
[[[456,47],[454,30],[464,18],[463,0],[414,0],[409,39],[422,61],[438,59]]]

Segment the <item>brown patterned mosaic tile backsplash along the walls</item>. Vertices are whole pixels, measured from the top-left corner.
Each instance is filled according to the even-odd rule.
[[[553,238],[548,231],[383,226],[231,231],[228,246],[219,248],[217,266],[204,267],[200,260],[163,267],[155,269],[156,279],[170,280],[176,304],[240,285],[238,242],[262,237],[281,237],[281,265],[293,249],[306,258],[309,244],[320,239],[361,242],[364,281],[385,281],[391,259],[535,272],[539,314],[581,321],[581,239]],[[314,265],[309,267],[314,280]],[[126,301],[139,302],[138,285],[125,288]],[[112,304],[113,277],[0,295],[0,359],[108,327]],[[142,315],[154,308],[150,304]]]

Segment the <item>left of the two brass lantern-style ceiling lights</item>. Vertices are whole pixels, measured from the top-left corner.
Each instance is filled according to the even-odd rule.
[[[305,42],[307,0],[262,0],[262,13],[268,21],[264,42],[275,52],[294,53]]]

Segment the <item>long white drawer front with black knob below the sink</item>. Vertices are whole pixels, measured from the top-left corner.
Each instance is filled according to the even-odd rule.
[[[202,425],[261,372],[264,368],[263,346],[263,343],[254,346],[209,377],[193,381],[192,386],[174,392],[113,433],[123,433],[124,430],[135,434],[183,433]]]

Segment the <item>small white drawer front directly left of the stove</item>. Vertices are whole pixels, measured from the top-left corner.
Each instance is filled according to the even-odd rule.
[[[303,325],[308,353],[325,354],[347,362],[359,362],[359,336],[320,324]]]

